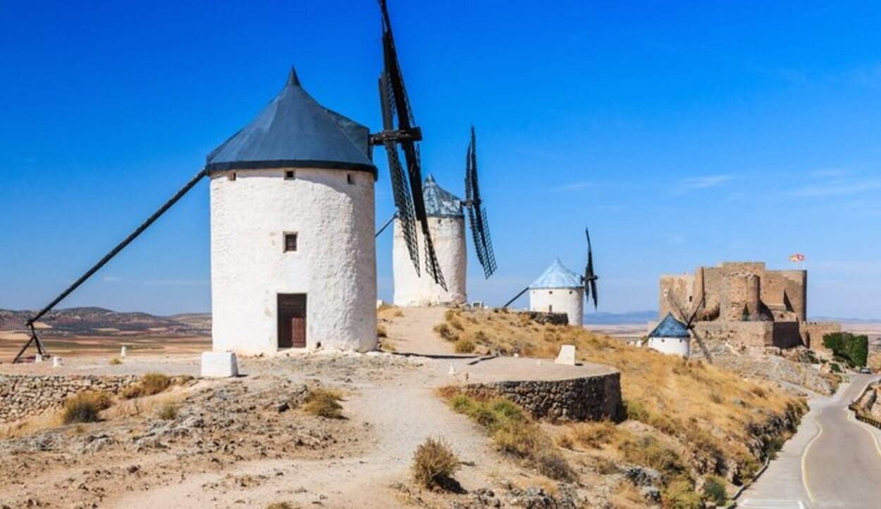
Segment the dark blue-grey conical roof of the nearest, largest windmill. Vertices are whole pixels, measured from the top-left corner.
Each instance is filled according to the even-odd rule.
[[[209,172],[257,168],[329,168],[374,173],[370,131],[318,104],[292,69],[263,111],[208,154]]]

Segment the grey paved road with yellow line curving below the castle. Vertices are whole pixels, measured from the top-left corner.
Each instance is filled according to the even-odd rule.
[[[881,433],[848,404],[877,377],[854,375],[833,398],[811,399],[796,436],[740,498],[751,509],[881,507]]]

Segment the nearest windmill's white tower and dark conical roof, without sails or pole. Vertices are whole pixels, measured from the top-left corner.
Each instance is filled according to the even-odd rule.
[[[214,350],[374,350],[374,182],[366,127],[292,70],[208,155]]]

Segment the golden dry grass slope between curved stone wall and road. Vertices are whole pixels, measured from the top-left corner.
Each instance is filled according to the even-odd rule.
[[[641,424],[570,424],[556,435],[556,445],[657,468],[667,475],[666,506],[700,502],[693,479],[725,474],[730,464],[737,465],[744,480],[751,476],[774,448],[774,443],[765,450],[751,448],[756,443],[751,429],[784,415],[797,421],[806,410],[803,400],[769,382],[745,380],[700,360],[635,348],[587,329],[484,310],[451,310],[446,318],[441,336],[468,338],[503,355],[554,358],[560,345],[574,344],[579,360],[618,368],[627,417]],[[528,444],[530,438],[522,440]]]

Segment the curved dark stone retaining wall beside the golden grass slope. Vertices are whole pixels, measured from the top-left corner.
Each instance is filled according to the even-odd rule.
[[[482,399],[505,397],[537,419],[619,422],[625,417],[620,373],[571,380],[501,381],[471,384],[466,394]]]

